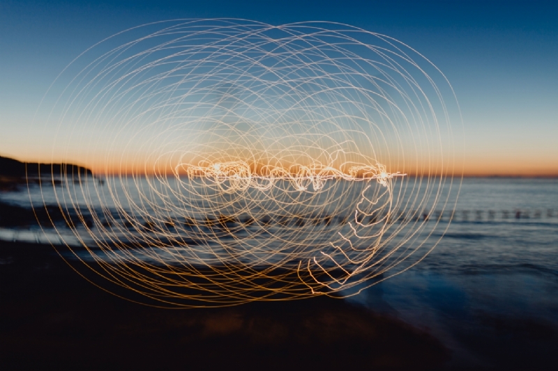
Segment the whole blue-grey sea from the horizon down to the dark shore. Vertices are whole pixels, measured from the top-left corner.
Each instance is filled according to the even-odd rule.
[[[165,236],[172,236],[165,239],[164,244],[179,241],[206,246],[213,255],[197,254],[198,262],[211,264],[223,260],[219,244],[226,238],[223,230],[216,232],[211,227],[211,223],[219,222],[220,216],[216,213],[208,216],[215,210],[211,203],[216,194],[198,192],[196,196],[195,187],[190,184],[193,180],[173,181],[170,185],[157,182],[153,186],[148,180],[127,179],[115,185],[111,180],[95,180],[85,191],[79,184],[66,187],[63,184],[52,187],[31,184],[29,189],[4,191],[0,193],[4,203],[22,207],[43,203],[70,205],[72,210],[77,205],[104,219],[93,218],[89,225],[84,222],[84,226],[74,228],[63,223],[43,228],[0,228],[0,239],[65,242],[77,246],[94,244],[109,231],[114,238],[133,242],[141,236],[161,235],[161,228],[166,228]],[[448,190],[450,185],[451,191]],[[181,191],[184,187],[188,190],[187,196]],[[291,239],[297,246],[313,244],[312,248],[293,248],[289,253],[294,260],[308,258],[308,251],[314,251],[313,247],[327,248],[332,238],[349,236],[350,221],[356,225],[351,200],[363,200],[365,184],[350,191],[347,189],[351,187],[337,185],[322,196],[314,196],[315,192],[308,192],[310,196],[296,196],[286,191],[286,187],[288,185],[283,189],[278,187],[273,205],[266,198],[258,198],[262,192],[257,190],[251,191],[250,203],[235,203],[234,192],[219,200],[220,213],[235,212],[238,223],[250,224],[239,230],[239,238],[228,240],[232,245],[237,240],[249,241],[236,245],[243,249],[243,254],[235,257],[237,260],[246,264],[258,260],[288,265],[289,261],[284,258],[275,261],[270,257],[280,249],[278,241]],[[352,285],[344,292],[348,296],[345,300],[375,313],[398,317],[441,339],[453,352],[452,364],[448,367],[490,368],[506,362],[512,366],[515,361],[525,361],[526,356],[548,358],[552,349],[558,349],[558,179],[465,177],[454,178],[451,184],[450,180],[445,180],[444,184],[407,180],[395,184],[389,196],[382,194],[382,187],[373,192],[377,198],[365,198],[364,202],[370,205],[376,202],[372,209],[378,205],[387,205],[387,208],[375,218],[370,213],[372,209],[362,207],[368,212],[363,214],[366,220],[362,223],[377,223],[376,229],[369,228],[372,239],[367,241],[377,244],[373,236],[387,225],[389,228],[384,231],[381,242],[386,249],[405,246],[405,241],[414,246],[423,242],[423,246],[408,261],[402,261],[402,267],[407,270],[385,280],[372,280],[370,282],[375,285],[370,287],[368,281]],[[275,212],[268,220],[267,214],[272,209],[280,212]],[[146,232],[146,220],[154,210],[158,217],[153,218],[149,224],[151,229]],[[386,215],[386,210],[395,212]],[[283,216],[290,219],[281,223]],[[135,228],[140,217],[142,230]],[[328,217],[331,220],[326,223],[324,220]],[[297,223],[297,218],[302,221]],[[188,228],[188,219],[204,221],[204,228]],[[312,223],[313,219],[319,219],[319,223]],[[180,227],[175,223],[181,223]],[[260,229],[266,229],[267,233],[259,232]],[[414,242],[404,238],[409,236],[409,231],[417,230],[419,237]],[[163,243],[161,239],[156,240]],[[259,248],[260,245],[266,248]],[[250,254],[250,248],[259,249],[259,253]],[[176,256],[171,253],[157,259],[176,259]],[[192,258],[180,256],[181,259]],[[135,258],[157,260],[141,254]],[[382,271],[379,277],[385,278],[390,272]]]

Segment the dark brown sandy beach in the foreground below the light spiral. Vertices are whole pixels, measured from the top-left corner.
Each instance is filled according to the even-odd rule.
[[[78,276],[51,246],[0,242],[2,370],[432,370],[428,333],[346,301],[168,310]]]

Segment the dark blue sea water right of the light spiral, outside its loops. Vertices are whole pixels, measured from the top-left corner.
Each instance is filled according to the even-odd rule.
[[[558,180],[467,178],[432,253],[349,300],[442,339],[448,368],[552,370],[557,205]]]

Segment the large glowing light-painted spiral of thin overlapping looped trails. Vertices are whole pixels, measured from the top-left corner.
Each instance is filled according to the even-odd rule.
[[[94,175],[41,180],[33,207],[64,216],[43,230],[149,305],[356,294],[422,260],[457,200],[448,81],[345,24],[139,26],[76,58],[41,107],[53,161]]]

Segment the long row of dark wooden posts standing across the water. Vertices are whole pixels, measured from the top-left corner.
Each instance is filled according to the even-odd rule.
[[[446,210],[428,212],[407,212],[407,213],[392,213],[392,214],[375,214],[365,216],[363,214],[354,214],[350,216],[332,216],[332,215],[310,215],[310,216],[261,216],[255,218],[253,216],[206,216],[203,219],[164,219],[162,221],[143,220],[138,221],[134,219],[126,221],[104,221],[103,227],[110,228],[113,226],[121,226],[125,228],[158,228],[158,226],[165,226],[165,228],[232,228],[234,226],[330,226],[332,223],[347,224],[349,222],[359,221],[364,225],[372,223],[403,223],[403,222],[425,222],[425,221],[461,221],[461,222],[490,222],[490,221],[523,221],[526,219],[554,219],[558,218],[558,213],[555,210]],[[89,219],[84,219],[84,223],[88,227],[93,226],[93,222]]]

